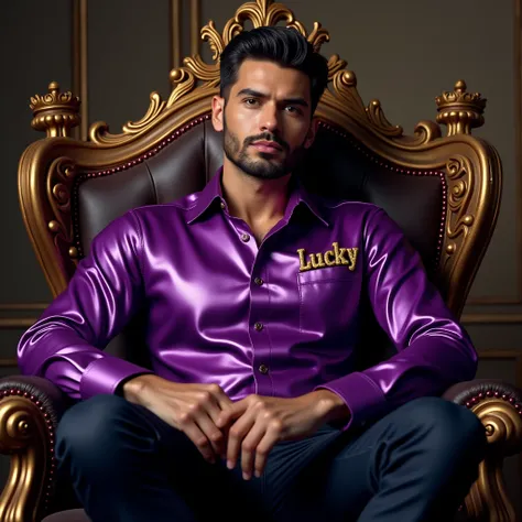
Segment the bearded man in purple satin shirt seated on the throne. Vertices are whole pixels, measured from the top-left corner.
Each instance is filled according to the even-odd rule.
[[[95,522],[449,520],[486,446],[437,396],[474,378],[469,338],[382,209],[293,176],[325,59],[261,28],[220,70],[222,168],[110,224],[20,341],[22,371],[78,400],[62,472]],[[398,354],[358,372],[362,295]],[[152,369],[102,351],[143,306]]]

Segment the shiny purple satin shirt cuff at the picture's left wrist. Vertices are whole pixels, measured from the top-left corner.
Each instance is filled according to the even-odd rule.
[[[152,371],[118,357],[101,357],[94,360],[81,376],[80,396],[85,400],[100,393],[113,394],[121,381],[143,373]]]

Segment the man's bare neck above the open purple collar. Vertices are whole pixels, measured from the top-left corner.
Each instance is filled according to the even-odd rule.
[[[289,200],[291,174],[279,180],[259,180],[244,174],[225,159],[222,194],[230,215],[243,219],[252,229],[282,219]]]

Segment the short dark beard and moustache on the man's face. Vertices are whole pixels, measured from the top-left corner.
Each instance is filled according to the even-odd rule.
[[[304,142],[290,152],[289,144],[271,132],[248,137],[243,140],[242,145],[238,137],[228,130],[226,122],[224,122],[224,150],[228,160],[244,172],[244,174],[259,180],[279,180],[290,174],[301,163],[306,152]],[[278,154],[265,152],[251,152],[249,154],[249,146],[260,140],[273,141],[283,151],[280,151]]]

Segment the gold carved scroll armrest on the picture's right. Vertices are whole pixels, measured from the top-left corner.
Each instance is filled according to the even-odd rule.
[[[469,407],[482,422],[489,442],[479,477],[466,497],[472,520],[515,522],[502,477],[503,459],[522,450],[522,391],[500,380],[477,379],[449,388],[445,399]]]

